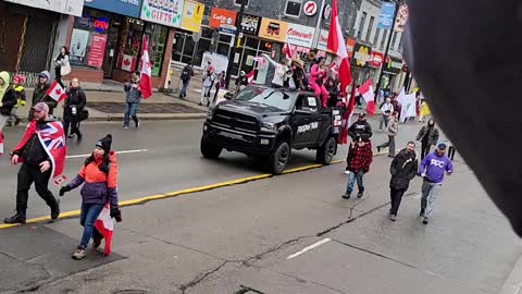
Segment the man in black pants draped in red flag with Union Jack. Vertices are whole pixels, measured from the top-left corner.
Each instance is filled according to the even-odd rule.
[[[35,183],[38,195],[51,208],[51,219],[60,215],[60,206],[49,191],[49,180],[63,172],[65,136],[62,124],[49,117],[49,107],[38,102],[33,107],[34,120],[29,122],[22,140],[13,151],[11,163],[23,162],[16,186],[16,215],[5,218],[5,223],[25,223],[29,187]]]

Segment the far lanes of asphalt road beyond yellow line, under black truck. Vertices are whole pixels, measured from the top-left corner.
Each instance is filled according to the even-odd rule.
[[[376,130],[375,119],[370,122]],[[403,146],[414,137],[420,125],[406,124],[397,138],[397,146]],[[201,157],[199,142],[202,121],[144,121],[139,130],[122,130],[121,123],[86,123],[84,140],[67,144],[69,158],[64,174],[73,179],[96,142],[105,134],[113,135],[113,149],[130,151],[117,156],[120,199],[133,199],[159,193],[170,193],[195,186],[214,184],[223,181],[265,173],[260,162],[241,154],[224,151],[220,160],[207,160]],[[11,151],[21,138],[23,127],[5,127],[5,151]],[[374,144],[385,140],[385,135],[375,132]],[[141,150],[141,151],[140,151]],[[337,159],[346,157],[347,148],[339,148]],[[79,157],[78,157],[79,156]],[[293,154],[288,169],[315,163],[315,154],[300,150]],[[0,157],[0,219],[13,213],[15,208],[17,167],[11,167],[9,156]],[[50,184],[58,194],[58,187]],[[79,189],[61,198],[62,211],[79,208]],[[29,193],[27,217],[41,217],[50,213],[47,205],[36,195]]]

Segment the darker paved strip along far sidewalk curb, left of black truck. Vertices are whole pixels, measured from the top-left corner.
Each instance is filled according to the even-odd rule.
[[[87,103],[88,108],[104,113],[125,113],[126,103],[119,102],[91,102]],[[203,113],[204,111],[185,106],[182,103],[140,103],[139,113]]]

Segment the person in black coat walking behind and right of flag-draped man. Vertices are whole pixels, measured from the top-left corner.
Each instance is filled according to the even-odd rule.
[[[84,137],[82,132],[79,132],[79,114],[85,108],[87,99],[85,97],[84,90],[79,87],[78,78],[73,78],[71,81],[71,87],[67,90],[67,99],[63,106],[63,130],[65,136],[69,135],[69,138],[73,138],[76,134],[77,140],[80,142]],[[71,127],[71,134],[69,134],[69,128]]]

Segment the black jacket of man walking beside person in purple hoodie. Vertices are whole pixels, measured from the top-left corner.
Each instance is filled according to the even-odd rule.
[[[410,186],[410,181],[417,175],[418,166],[419,162],[417,161],[414,151],[408,152],[406,149],[400,150],[389,166],[389,172],[391,173],[389,187],[407,191]]]

